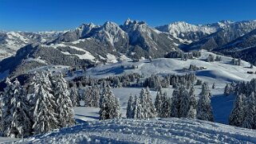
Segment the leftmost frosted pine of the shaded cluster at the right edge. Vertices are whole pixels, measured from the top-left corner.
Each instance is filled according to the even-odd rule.
[[[229,124],[232,126],[242,126],[242,122],[245,116],[244,111],[244,100],[246,99],[245,95],[238,95],[235,99],[234,108],[230,114]]]

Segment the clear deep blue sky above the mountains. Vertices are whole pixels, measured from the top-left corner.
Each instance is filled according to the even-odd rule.
[[[0,0],[1,30],[63,30],[81,23],[123,24],[127,18],[164,25],[256,19],[254,0]]]

